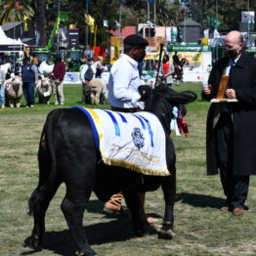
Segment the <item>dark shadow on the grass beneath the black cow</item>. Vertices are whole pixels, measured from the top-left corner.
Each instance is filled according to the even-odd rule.
[[[91,200],[88,203],[87,211],[99,213],[103,210],[103,205],[104,203],[101,201]],[[135,237],[129,218],[118,217],[117,215],[109,215],[109,217],[106,215],[106,218],[112,220],[109,219],[108,222],[101,223],[101,219],[99,219],[99,223],[84,227],[90,245],[125,241]],[[86,225],[86,214],[84,223]],[[149,227],[149,235],[155,234],[156,230]],[[58,255],[73,256],[77,249],[69,230],[64,230],[47,232],[44,236],[43,250],[49,250]],[[34,253],[36,251],[29,250],[22,252],[21,255],[32,255]]]

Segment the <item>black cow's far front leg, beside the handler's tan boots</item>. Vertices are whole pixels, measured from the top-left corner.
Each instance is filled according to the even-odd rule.
[[[123,192],[126,205],[130,209],[132,217],[133,231],[137,236],[147,235],[146,222],[141,218],[140,212],[140,193],[139,192]]]

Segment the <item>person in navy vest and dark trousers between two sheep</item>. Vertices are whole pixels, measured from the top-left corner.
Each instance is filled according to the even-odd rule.
[[[21,78],[26,107],[34,107],[34,88],[38,82],[38,69],[35,64],[31,63],[29,57],[23,59]]]

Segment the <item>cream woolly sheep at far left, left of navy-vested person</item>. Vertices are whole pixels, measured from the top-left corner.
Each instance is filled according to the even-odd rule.
[[[4,87],[7,104],[9,103],[10,107],[21,107],[21,97],[23,94],[21,76],[16,75],[6,80]]]

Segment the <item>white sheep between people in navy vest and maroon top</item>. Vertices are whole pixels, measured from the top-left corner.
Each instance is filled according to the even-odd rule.
[[[50,98],[53,93],[54,82],[49,77],[40,79],[36,85],[36,95],[39,99],[39,104],[50,104]]]

